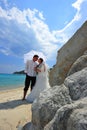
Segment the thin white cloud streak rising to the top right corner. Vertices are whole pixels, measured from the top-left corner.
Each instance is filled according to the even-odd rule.
[[[66,43],[77,29],[87,20],[87,14],[85,14],[85,17],[83,16],[85,12],[83,12],[82,4],[84,4],[83,8],[86,8],[87,0],[77,0],[73,3],[72,6],[76,9],[76,14],[73,19],[63,29],[53,31],[53,34],[58,39],[58,42],[63,44]]]

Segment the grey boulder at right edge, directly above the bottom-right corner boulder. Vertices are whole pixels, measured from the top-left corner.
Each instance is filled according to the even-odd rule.
[[[68,76],[64,85],[68,87],[72,100],[87,96],[87,68]]]

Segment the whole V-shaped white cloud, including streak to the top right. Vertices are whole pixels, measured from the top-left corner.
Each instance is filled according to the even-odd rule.
[[[73,3],[72,6],[77,11],[73,19],[63,29],[52,32],[45,23],[43,13],[36,9],[21,11],[17,7],[8,10],[0,7],[1,52],[23,56],[24,53],[33,49],[42,51],[48,58],[54,57],[61,45],[75,33],[87,18],[86,16],[82,17],[81,10],[81,5],[85,1],[87,0],[77,0]],[[6,0],[4,3],[8,5]]]

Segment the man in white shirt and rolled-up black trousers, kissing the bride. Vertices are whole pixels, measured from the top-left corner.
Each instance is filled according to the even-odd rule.
[[[36,71],[34,69],[37,66],[36,61],[38,60],[38,57],[39,57],[38,55],[34,55],[32,60],[28,60],[26,62],[26,66],[25,66],[26,78],[25,78],[25,87],[24,87],[22,100],[25,100],[29,86],[31,85],[31,90],[32,90],[36,83]]]

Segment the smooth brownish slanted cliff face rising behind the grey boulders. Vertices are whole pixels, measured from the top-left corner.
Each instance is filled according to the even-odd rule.
[[[51,86],[64,82],[72,64],[87,49],[87,21],[73,37],[58,51],[56,65],[51,69],[49,82]]]

